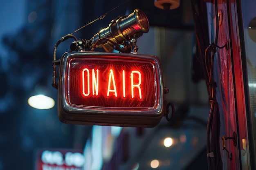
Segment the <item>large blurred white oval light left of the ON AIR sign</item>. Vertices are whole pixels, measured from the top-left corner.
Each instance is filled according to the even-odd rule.
[[[45,95],[35,95],[28,99],[29,106],[37,109],[49,109],[55,105],[54,99]]]

